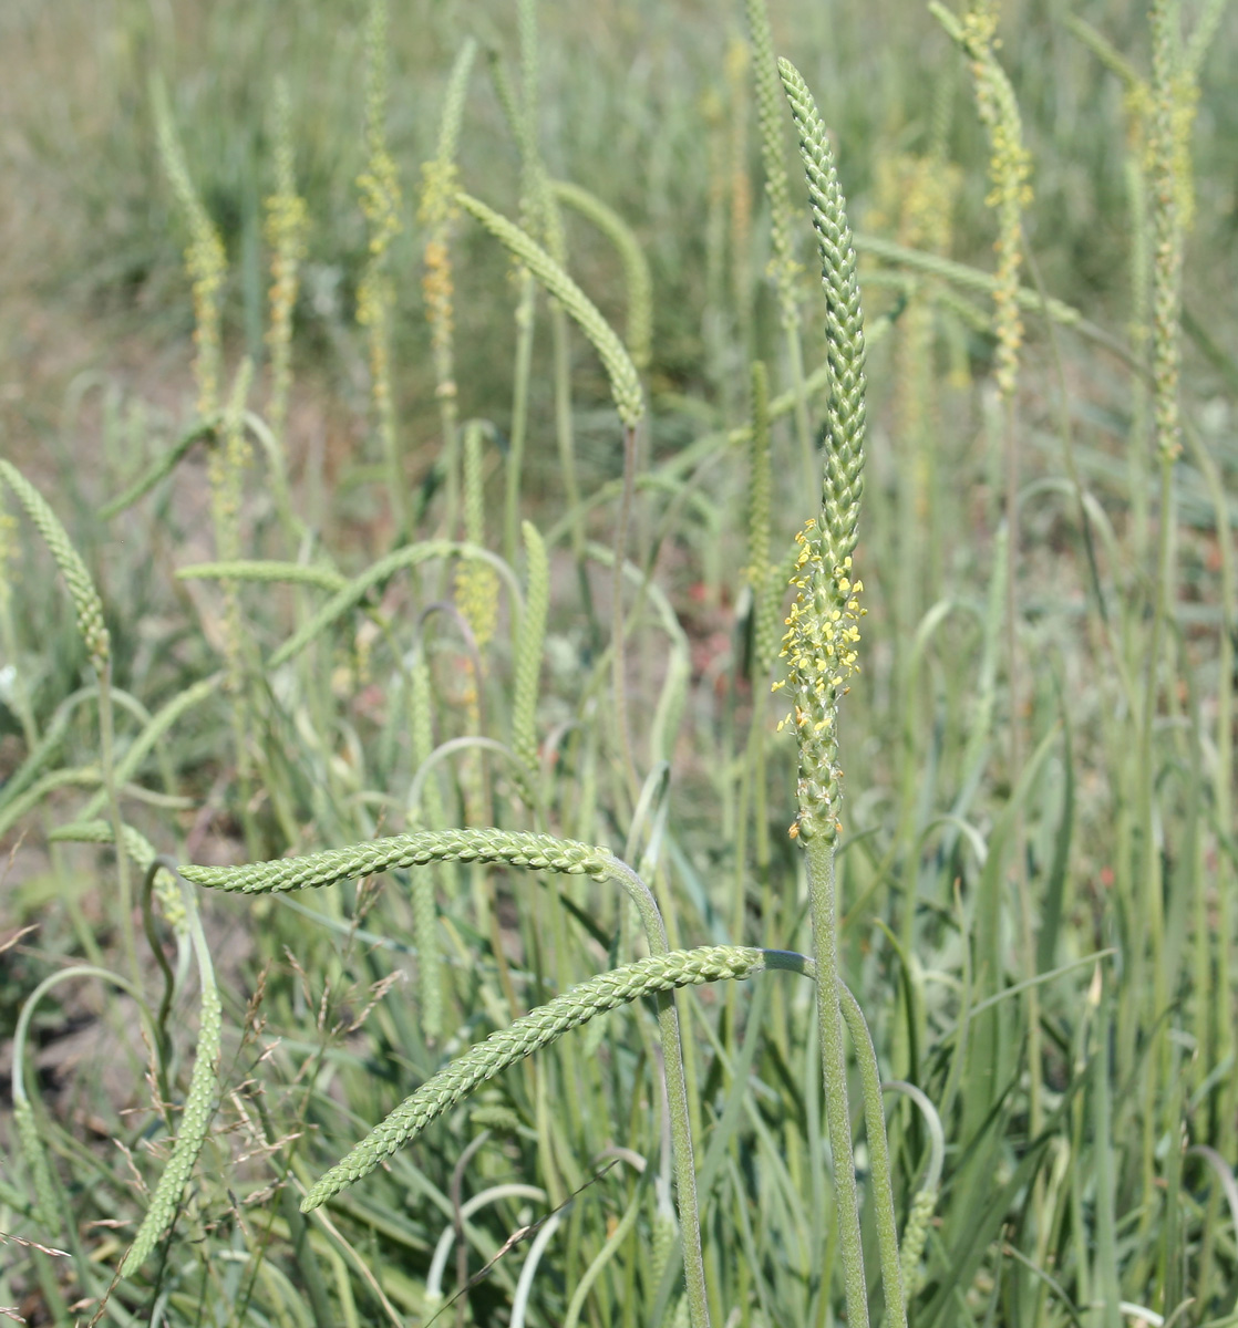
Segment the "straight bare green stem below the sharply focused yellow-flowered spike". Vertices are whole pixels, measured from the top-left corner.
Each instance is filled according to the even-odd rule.
[[[821,1074],[825,1081],[826,1121],[834,1163],[847,1324],[850,1328],[867,1328],[869,1299],[863,1275],[863,1247],[859,1239],[859,1195],[855,1189],[846,1056],[842,1046],[842,1007],[838,996],[841,979],[834,846],[825,835],[814,835],[808,843],[808,880],[813,918],[813,959],[817,964],[817,1033],[821,1041]]]

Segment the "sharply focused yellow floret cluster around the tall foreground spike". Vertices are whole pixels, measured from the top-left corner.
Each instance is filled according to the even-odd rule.
[[[858,599],[863,582],[851,580],[850,556],[828,568],[816,521],[809,521],[796,540],[800,555],[792,586],[800,594],[785,619],[780,652],[788,660],[789,677],[773,685],[777,692],[792,684],[794,709],[778,730],[793,722],[802,734],[821,734],[833,728],[838,697],[859,672],[855,647],[857,624],[866,612]]]

